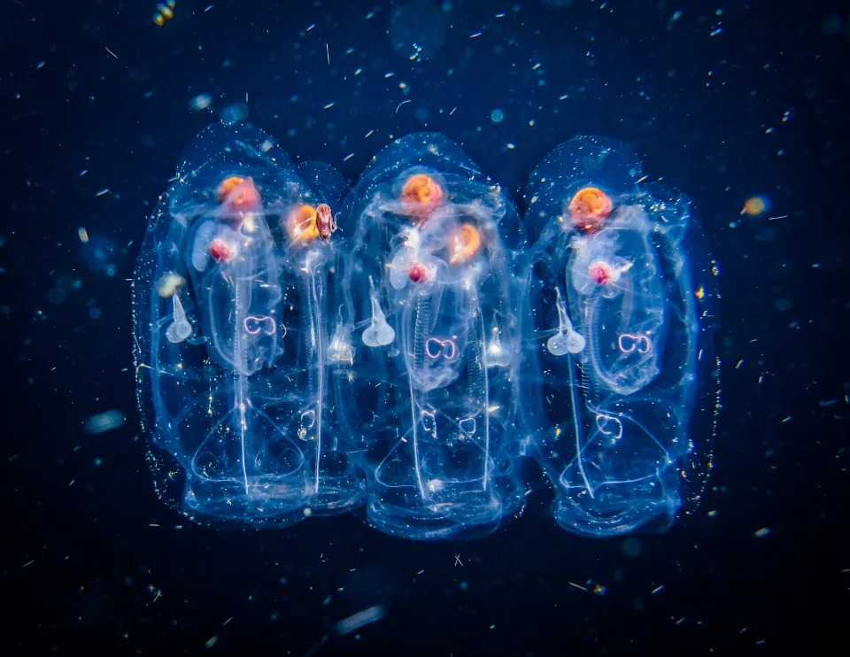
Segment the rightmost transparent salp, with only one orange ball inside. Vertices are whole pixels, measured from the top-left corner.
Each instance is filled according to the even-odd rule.
[[[566,529],[665,529],[699,497],[715,426],[713,274],[688,200],[629,147],[561,144],[529,179],[524,423]]]

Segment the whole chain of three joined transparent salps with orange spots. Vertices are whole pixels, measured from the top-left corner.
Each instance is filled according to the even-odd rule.
[[[533,454],[564,528],[666,528],[710,468],[716,267],[643,180],[622,143],[561,144],[523,227],[442,135],[391,143],[341,203],[331,167],[205,129],[135,272],[159,494],[251,526],[367,499],[390,534],[472,537],[519,511]]]

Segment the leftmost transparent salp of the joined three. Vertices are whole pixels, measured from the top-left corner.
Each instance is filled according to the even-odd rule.
[[[359,502],[328,401],[328,213],[344,187],[327,165],[299,175],[258,129],[215,125],[151,216],[139,405],[159,493],[198,520],[285,524]]]

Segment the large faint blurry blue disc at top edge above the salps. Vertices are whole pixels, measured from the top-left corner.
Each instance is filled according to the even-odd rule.
[[[433,0],[413,0],[393,8],[390,43],[411,61],[432,59],[445,43],[449,14]]]

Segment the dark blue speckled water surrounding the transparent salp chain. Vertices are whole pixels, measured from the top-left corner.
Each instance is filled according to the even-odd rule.
[[[842,638],[846,2],[421,0],[413,36],[392,21],[405,4],[180,0],[164,27],[146,0],[4,4],[0,653],[761,654]],[[199,94],[210,109],[189,107]],[[591,540],[554,526],[540,486],[491,537],[423,544],[354,516],[216,531],[162,505],[129,281],[182,149],[236,103],[350,181],[428,129],[522,208],[547,151],[600,134],[687,191],[723,271],[723,414],[697,513]],[[769,211],[741,217],[753,194]],[[85,430],[111,409],[122,426]],[[383,619],[334,634],[375,604]]]

